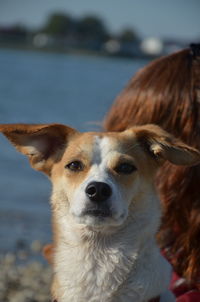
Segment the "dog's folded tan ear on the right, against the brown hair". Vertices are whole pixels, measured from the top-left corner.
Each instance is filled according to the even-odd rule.
[[[156,125],[145,125],[132,128],[136,137],[158,163],[168,160],[175,165],[193,166],[200,163],[200,152]]]

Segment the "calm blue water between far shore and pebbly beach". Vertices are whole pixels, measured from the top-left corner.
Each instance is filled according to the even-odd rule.
[[[144,61],[0,49],[0,123],[96,130]],[[51,238],[50,183],[0,136],[0,250]]]

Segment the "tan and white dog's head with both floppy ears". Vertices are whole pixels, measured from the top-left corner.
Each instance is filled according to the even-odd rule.
[[[122,225],[130,209],[158,207],[152,182],[164,161],[200,162],[196,149],[155,125],[118,133],[80,133],[59,124],[0,125],[0,131],[50,177],[60,219],[94,228]]]

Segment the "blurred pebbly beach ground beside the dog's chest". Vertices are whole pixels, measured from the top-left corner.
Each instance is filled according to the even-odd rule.
[[[50,302],[51,267],[41,256],[42,244],[0,253],[0,302]]]

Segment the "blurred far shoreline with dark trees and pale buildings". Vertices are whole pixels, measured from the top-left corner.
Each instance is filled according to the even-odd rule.
[[[112,33],[105,22],[95,15],[74,18],[63,12],[55,12],[37,30],[21,24],[0,25],[0,47],[155,57],[187,47],[188,44],[188,41],[173,39],[142,39],[133,28]]]

